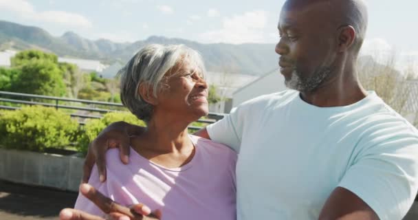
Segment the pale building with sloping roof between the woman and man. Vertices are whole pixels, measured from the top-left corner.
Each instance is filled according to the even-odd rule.
[[[232,95],[232,107],[236,107],[242,102],[256,98],[257,96],[272,94],[284,89],[286,89],[285,77],[283,77],[278,69],[274,69],[274,71],[241,87],[241,89],[237,89]]]

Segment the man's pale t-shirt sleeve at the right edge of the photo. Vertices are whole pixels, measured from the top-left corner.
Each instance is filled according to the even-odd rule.
[[[418,136],[410,129],[385,130],[362,146],[339,186],[360,197],[380,219],[402,219],[417,195]]]

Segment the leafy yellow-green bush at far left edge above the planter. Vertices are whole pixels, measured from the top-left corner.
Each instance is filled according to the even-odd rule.
[[[0,146],[29,151],[63,148],[76,136],[78,123],[49,107],[0,112]]]

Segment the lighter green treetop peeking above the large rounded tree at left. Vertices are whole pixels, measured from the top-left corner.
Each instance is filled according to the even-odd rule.
[[[17,53],[12,59],[12,67],[19,67],[30,61],[51,61],[58,64],[58,56],[55,54],[48,54],[40,50],[25,50]]]

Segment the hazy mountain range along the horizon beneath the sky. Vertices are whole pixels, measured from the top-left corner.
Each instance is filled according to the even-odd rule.
[[[111,64],[115,61],[125,63],[137,50],[150,43],[181,43],[198,50],[207,69],[213,72],[262,75],[278,65],[278,55],[274,52],[273,44],[203,44],[164,36],[150,36],[134,43],[114,43],[106,39],[91,41],[74,32],[56,37],[41,28],[0,21],[0,50],[36,48],[54,52],[58,56],[97,59]]]

